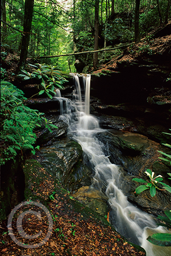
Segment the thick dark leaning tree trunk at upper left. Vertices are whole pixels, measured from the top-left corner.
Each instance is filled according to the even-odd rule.
[[[26,65],[26,58],[27,58],[27,52],[28,52],[28,44],[29,44],[29,40],[30,40],[30,31],[31,31],[33,10],[34,10],[34,0],[25,0],[24,24],[23,24],[24,36],[22,37],[22,49],[20,52],[18,72],[19,72],[20,68],[23,69]]]

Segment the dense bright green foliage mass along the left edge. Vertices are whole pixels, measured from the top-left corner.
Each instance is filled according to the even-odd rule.
[[[24,106],[26,100],[22,90],[10,82],[1,81],[1,164],[14,159],[19,151],[22,156],[24,150],[35,154],[39,149],[39,146],[33,146],[36,143],[35,127],[44,124],[50,131],[50,126],[57,128],[43,117],[43,113]]]

